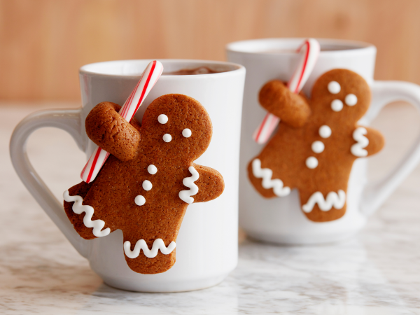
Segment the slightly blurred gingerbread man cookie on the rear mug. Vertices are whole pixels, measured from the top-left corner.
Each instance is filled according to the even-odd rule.
[[[377,130],[357,125],[370,104],[365,80],[345,69],[328,71],[316,80],[311,99],[272,80],[260,90],[259,100],[281,123],[248,165],[255,189],[270,198],[297,188],[302,211],[311,221],[344,216],[354,160],[384,146]]]

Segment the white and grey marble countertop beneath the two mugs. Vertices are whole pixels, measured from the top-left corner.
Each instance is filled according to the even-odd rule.
[[[59,104],[62,106],[75,104]],[[0,105],[0,314],[420,314],[420,167],[341,244],[273,246],[241,235],[239,264],[218,286],[132,293],[106,286],[20,183],[8,155],[13,127],[36,108]],[[387,106],[374,127],[387,145],[370,177],[392,167],[420,132],[412,107]],[[38,130],[29,157],[61,197],[85,156],[62,131]]]

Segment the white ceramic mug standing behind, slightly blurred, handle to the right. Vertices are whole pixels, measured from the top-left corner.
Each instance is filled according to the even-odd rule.
[[[354,235],[367,217],[384,202],[420,160],[420,138],[382,181],[367,184],[367,161],[354,162],[347,190],[346,214],[336,221],[309,221],[300,210],[297,190],[287,197],[265,199],[251,186],[246,167],[263,146],[253,141],[253,132],[267,111],[258,104],[258,92],[268,80],[287,81],[300,58],[293,51],[304,38],[269,38],[238,41],[227,46],[228,60],[246,67],[239,162],[239,225],[248,236],[281,244],[319,244]],[[405,100],[420,109],[420,87],[413,83],[373,79],[376,48],[368,43],[319,39],[321,53],[304,85],[310,96],[315,80],[331,69],[350,69],[363,76],[372,90],[370,109],[360,120],[369,125],[388,103]]]

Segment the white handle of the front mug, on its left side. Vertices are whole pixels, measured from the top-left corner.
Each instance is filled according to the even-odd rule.
[[[87,258],[90,245],[74,230],[64,212],[62,203],[52,195],[50,189],[35,172],[27,155],[27,139],[32,132],[42,127],[55,127],[69,132],[78,148],[84,151],[86,144],[82,137],[81,112],[81,108],[50,109],[37,111],[27,116],[13,130],[10,139],[10,158],[16,173],[29,193],[34,196],[36,202],[69,239],[78,253]]]

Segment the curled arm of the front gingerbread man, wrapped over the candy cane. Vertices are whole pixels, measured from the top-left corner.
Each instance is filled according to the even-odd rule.
[[[140,125],[130,123],[118,114],[121,106],[102,102],[94,106],[85,120],[87,137],[118,160],[132,160],[140,144]]]

